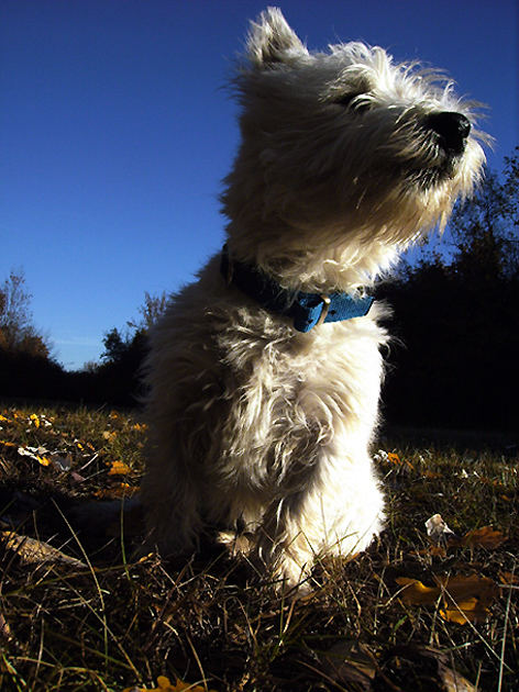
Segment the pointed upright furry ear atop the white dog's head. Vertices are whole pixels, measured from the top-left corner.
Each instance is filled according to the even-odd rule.
[[[267,8],[257,22],[251,22],[247,53],[253,65],[262,69],[308,55],[278,8]]]

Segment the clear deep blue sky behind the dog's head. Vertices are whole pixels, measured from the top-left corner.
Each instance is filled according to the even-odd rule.
[[[238,143],[222,87],[266,4],[0,0],[0,282],[23,268],[66,367],[221,246]],[[492,168],[519,143],[517,0],[277,4],[310,48],[363,40],[445,69],[490,108]]]

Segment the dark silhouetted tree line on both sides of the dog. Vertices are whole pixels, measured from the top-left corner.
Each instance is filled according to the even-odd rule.
[[[443,247],[383,281],[394,309],[383,391],[393,423],[515,429],[519,414],[519,147],[460,203]],[[32,324],[22,272],[0,287],[0,398],[137,405],[146,334],[166,305],[145,294],[140,316],[103,338],[99,364],[67,372]]]

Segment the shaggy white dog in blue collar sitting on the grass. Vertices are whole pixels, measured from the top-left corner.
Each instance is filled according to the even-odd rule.
[[[309,53],[277,9],[235,88],[227,246],[152,334],[143,500],[163,554],[218,528],[292,588],[383,526],[368,449],[387,335],[365,291],[484,155],[451,82],[361,43]]]

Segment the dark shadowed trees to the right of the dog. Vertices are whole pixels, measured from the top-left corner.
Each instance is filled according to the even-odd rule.
[[[518,210],[519,147],[501,179],[487,171],[474,198],[455,208],[448,257],[424,254],[380,287],[400,339],[384,392],[391,420],[517,429]]]

